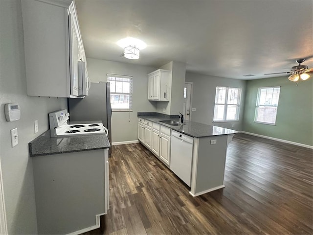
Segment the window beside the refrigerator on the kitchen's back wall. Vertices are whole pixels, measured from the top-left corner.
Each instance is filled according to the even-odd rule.
[[[132,111],[133,77],[107,74],[112,111]]]

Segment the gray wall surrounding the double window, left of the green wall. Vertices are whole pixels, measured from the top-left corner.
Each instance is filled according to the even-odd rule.
[[[186,82],[193,82],[192,107],[196,108],[196,111],[192,111],[191,113],[192,121],[233,130],[242,130],[246,81],[187,72]],[[239,121],[215,122],[213,124],[215,91],[217,86],[242,88],[242,105],[240,108]],[[232,127],[232,125],[234,125],[234,127]]]

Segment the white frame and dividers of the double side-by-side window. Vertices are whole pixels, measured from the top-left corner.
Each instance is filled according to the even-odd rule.
[[[218,88],[225,88],[226,89],[226,93],[225,93],[225,99],[224,99],[224,103],[216,103],[216,94],[217,94],[217,89]],[[238,89],[239,91],[239,99],[237,104],[228,104],[228,90],[229,89]],[[239,116],[240,116],[240,108],[241,108],[241,96],[242,96],[242,88],[240,87],[225,87],[225,86],[216,86],[215,88],[215,99],[214,99],[214,108],[213,108],[213,123],[214,122],[237,122],[239,121]],[[224,115],[223,115],[223,120],[214,120],[214,116],[215,116],[215,106],[216,105],[224,105]],[[229,106],[233,106],[236,105],[236,114],[237,114],[237,119],[227,119],[227,107]]]

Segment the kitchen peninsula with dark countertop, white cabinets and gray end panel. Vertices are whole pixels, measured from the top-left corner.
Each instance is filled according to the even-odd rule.
[[[174,138],[173,133],[175,132],[181,133],[180,136],[184,135],[191,137],[186,137],[189,140],[192,140],[193,138],[192,156],[190,156],[191,161],[188,165],[190,172],[185,172],[187,176],[190,174],[190,185],[178,175],[179,178],[190,186],[189,193],[192,196],[199,196],[219,188],[224,188],[226,150],[228,143],[232,140],[237,131],[193,121],[185,121],[184,123],[179,124],[180,120],[177,117],[177,115],[169,116],[159,113],[138,113],[139,141],[141,141],[148,149],[152,150],[156,157],[176,173],[173,170],[175,166],[173,165],[174,163],[172,160],[173,157],[179,158],[179,156],[174,156],[173,153],[176,153],[174,149],[175,146],[171,146],[170,138]],[[164,120],[172,120],[173,124],[166,124],[162,122]],[[141,129],[146,130],[146,128],[149,131],[141,131]],[[153,149],[155,149],[154,145],[157,145],[157,142],[154,141],[154,136],[159,136],[157,131],[160,132],[160,129],[160,136],[162,136],[162,128],[168,130],[166,135],[169,142],[168,147],[171,149],[171,154],[173,154],[173,156],[168,156],[167,162],[162,158],[162,154],[157,154],[156,151],[153,151]],[[170,137],[171,133],[172,137]],[[162,147],[162,142],[161,146],[158,146],[160,149],[159,152],[161,152],[162,149],[164,149],[164,146]],[[181,164],[184,164],[184,159],[181,159],[181,162]]]

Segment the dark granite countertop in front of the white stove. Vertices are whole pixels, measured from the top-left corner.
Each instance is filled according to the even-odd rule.
[[[76,123],[71,122],[71,124]],[[105,134],[51,138],[50,130],[28,144],[30,157],[105,149],[110,148],[110,146]]]

